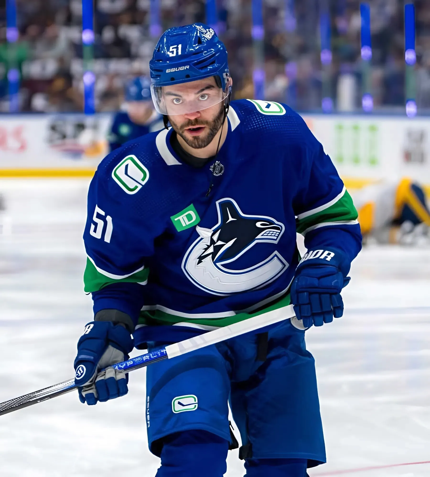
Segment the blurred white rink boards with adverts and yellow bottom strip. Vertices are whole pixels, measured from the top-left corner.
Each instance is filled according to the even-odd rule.
[[[0,176],[92,176],[112,114],[0,117]],[[430,117],[303,114],[350,188],[409,176],[430,185]]]

